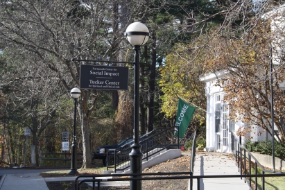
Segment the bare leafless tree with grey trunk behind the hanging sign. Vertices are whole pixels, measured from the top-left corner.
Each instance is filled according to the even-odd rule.
[[[121,1],[119,1],[121,2]],[[0,41],[6,49],[25,49],[37,57],[37,67],[46,68],[60,81],[66,94],[79,85],[80,64],[76,59],[108,60],[120,44],[126,26],[120,26],[113,38],[112,6],[114,1],[1,1]],[[128,2],[128,22],[143,3]],[[12,54],[11,54],[12,55]],[[50,86],[51,87],[51,86]],[[89,116],[94,112],[100,91],[82,89],[79,115],[83,135],[83,167],[92,161]]]

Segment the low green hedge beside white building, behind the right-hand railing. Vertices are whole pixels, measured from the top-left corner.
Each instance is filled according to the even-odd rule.
[[[279,141],[274,141],[275,156],[281,159],[285,158],[285,144]],[[264,155],[272,155],[272,141],[246,141],[245,148],[250,150],[250,152],[257,152]]]

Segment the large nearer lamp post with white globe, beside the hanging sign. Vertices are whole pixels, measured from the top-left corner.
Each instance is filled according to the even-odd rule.
[[[134,22],[128,26],[124,35],[127,37],[128,42],[135,49],[135,84],[134,84],[134,144],[131,146],[130,152],[130,173],[141,173],[142,153],[141,146],[139,145],[139,51],[141,46],[148,41],[150,33],[146,25],[141,22]],[[141,175],[132,176],[132,178],[140,178]],[[141,190],[141,181],[131,180],[131,190]]]

